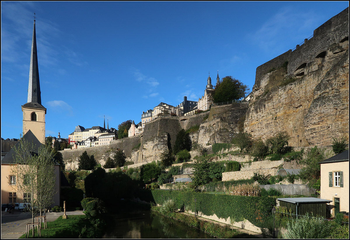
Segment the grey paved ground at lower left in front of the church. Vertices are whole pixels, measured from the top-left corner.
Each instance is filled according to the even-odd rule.
[[[66,211],[69,215],[83,215],[83,211]],[[63,212],[47,212],[46,221],[55,221]],[[1,211],[1,239],[17,239],[26,233],[27,223],[31,223],[31,212],[20,212],[14,210],[14,213]]]

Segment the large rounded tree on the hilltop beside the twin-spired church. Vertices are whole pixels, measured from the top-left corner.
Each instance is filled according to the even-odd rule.
[[[214,102],[228,102],[245,97],[249,88],[238,79],[226,76],[222,78],[219,85],[216,86],[213,95]]]

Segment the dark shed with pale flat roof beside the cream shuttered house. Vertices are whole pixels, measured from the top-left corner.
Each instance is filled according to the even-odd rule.
[[[277,198],[280,206],[285,206],[287,209],[291,209],[293,214],[296,215],[309,215],[320,216],[326,218],[327,216],[327,203],[332,201],[327,199],[320,199],[315,197],[289,197],[289,198]]]

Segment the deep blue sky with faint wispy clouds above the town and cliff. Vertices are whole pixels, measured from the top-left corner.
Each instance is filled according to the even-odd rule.
[[[46,136],[109,127],[160,102],[198,101],[231,75],[295,48],[349,6],[308,2],[1,2],[1,137],[19,138],[27,102],[33,16]]]

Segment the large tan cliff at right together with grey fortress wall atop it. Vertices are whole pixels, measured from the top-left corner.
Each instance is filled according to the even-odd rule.
[[[292,146],[349,138],[349,8],[257,68],[244,130],[263,140],[286,131]]]

